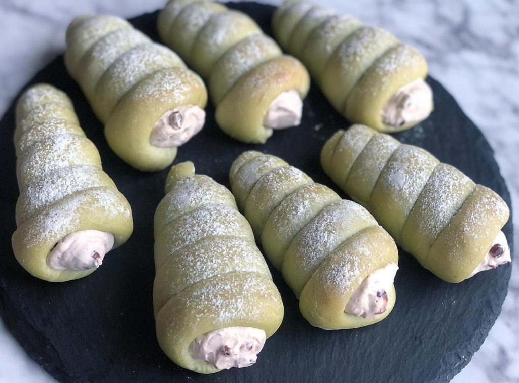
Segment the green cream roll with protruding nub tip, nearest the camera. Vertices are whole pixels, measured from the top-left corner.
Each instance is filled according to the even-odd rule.
[[[153,307],[162,350],[203,374],[255,363],[283,303],[233,194],[173,166],[155,212]]]

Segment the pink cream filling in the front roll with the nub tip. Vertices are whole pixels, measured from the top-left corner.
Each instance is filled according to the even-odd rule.
[[[218,370],[249,367],[265,345],[265,331],[254,327],[227,327],[200,335],[189,348],[193,358]]]

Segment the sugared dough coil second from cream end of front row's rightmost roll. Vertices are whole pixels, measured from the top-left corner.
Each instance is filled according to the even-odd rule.
[[[419,230],[436,238],[456,214],[474,188],[474,182],[456,168],[440,164],[420,194],[413,210],[420,218]]]

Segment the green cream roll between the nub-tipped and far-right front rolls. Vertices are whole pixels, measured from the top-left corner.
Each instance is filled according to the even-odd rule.
[[[310,324],[358,328],[391,312],[398,251],[366,209],[256,151],[236,159],[229,179],[238,207]]]

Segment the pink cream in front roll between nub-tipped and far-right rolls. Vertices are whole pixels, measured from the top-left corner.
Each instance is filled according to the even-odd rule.
[[[389,262],[368,275],[351,295],[344,311],[365,319],[384,313],[397,270],[397,264]]]

